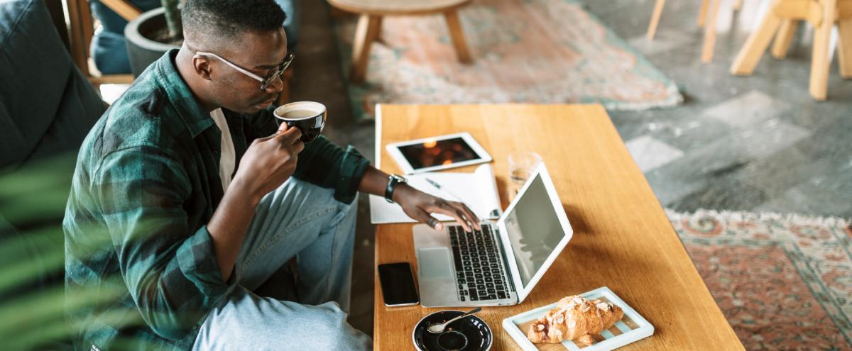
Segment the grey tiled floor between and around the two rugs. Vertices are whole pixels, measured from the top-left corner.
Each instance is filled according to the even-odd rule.
[[[716,60],[699,60],[703,32],[695,25],[698,1],[670,0],[653,43],[644,38],[653,0],[583,0],[680,86],[682,106],[610,112],[660,203],[675,210],[795,212],[852,218],[852,82],[832,66],[826,102],[808,95],[810,40],[800,29],[786,60],[766,55],[751,77],[728,67],[764,0],[746,0],[739,13],[723,0]],[[302,6],[302,33],[291,81],[293,101],[328,107],[327,135],[374,153],[371,123],[355,124],[324,2]],[[476,101],[471,101],[476,102]],[[371,334],[373,226],[360,199],[351,323]],[[381,303],[381,302],[379,302]]]

